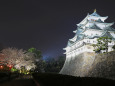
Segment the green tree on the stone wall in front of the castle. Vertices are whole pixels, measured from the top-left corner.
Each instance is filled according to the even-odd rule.
[[[99,37],[97,39],[97,44],[93,44],[92,46],[95,48],[94,51],[96,53],[100,53],[101,50],[105,50],[108,52],[108,43],[111,43],[112,38],[106,37]]]

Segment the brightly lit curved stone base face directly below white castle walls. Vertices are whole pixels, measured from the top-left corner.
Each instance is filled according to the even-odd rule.
[[[94,59],[94,52],[84,52],[75,57],[66,58],[60,74],[83,77],[87,75]]]

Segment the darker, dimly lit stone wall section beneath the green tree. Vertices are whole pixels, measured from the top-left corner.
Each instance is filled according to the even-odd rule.
[[[115,80],[115,51],[96,55],[95,60],[86,76]]]

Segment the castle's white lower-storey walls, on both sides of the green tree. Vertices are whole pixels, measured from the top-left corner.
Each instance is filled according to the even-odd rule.
[[[81,40],[77,43],[75,43],[74,45],[67,47],[66,49],[66,58],[74,58],[75,56],[84,53],[84,52],[94,52],[94,48],[93,46],[91,46],[92,44],[96,44],[97,43],[97,38],[94,39],[84,39]],[[111,43],[108,43],[108,51],[113,51],[112,46],[114,45],[114,41],[112,41]],[[105,52],[105,50],[103,50],[102,52]]]

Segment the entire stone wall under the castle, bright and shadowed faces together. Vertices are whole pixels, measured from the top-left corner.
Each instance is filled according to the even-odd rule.
[[[97,54],[85,52],[76,57],[68,58],[60,71],[80,77],[102,77],[115,80],[115,51]]]

